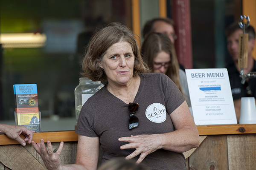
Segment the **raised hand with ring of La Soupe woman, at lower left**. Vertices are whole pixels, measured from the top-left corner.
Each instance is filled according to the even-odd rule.
[[[61,154],[63,145],[64,145],[64,142],[61,142],[56,153],[53,153],[52,144],[50,141],[47,141],[48,150],[45,147],[43,139],[41,139],[40,143],[38,142],[37,144],[34,141],[32,141],[32,146],[34,147],[36,152],[41,156],[48,170],[60,170],[60,167],[61,167],[60,154]]]

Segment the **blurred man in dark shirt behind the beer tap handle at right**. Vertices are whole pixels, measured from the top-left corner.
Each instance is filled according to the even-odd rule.
[[[256,61],[253,59],[253,48],[255,45],[255,30],[252,26],[246,28],[245,33],[248,33],[248,64],[247,68],[244,68],[244,74],[248,74],[251,71],[256,71]],[[234,100],[234,106],[236,111],[236,119],[239,122],[241,97],[256,97],[256,78],[247,78],[244,85],[241,84],[242,78],[239,77],[241,68],[238,67],[238,49],[239,49],[239,34],[243,34],[243,30],[239,27],[239,24],[233,23],[227,27],[225,34],[227,36],[227,49],[233,62],[226,66],[232,96]]]

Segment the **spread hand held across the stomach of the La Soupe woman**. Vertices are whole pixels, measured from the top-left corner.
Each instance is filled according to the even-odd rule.
[[[136,149],[133,153],[126,156],[125,159],[132,159],[140,154],[140,158],[136,162],[137,164],[140,164],[140,162],[143,161],[148,154],[161,149],[161,139],[159,134],[138,136],[131,135],[131,137],[122,137],[118,140],[120,142],[129,142],[129,144],[120,146],[120,149]]]

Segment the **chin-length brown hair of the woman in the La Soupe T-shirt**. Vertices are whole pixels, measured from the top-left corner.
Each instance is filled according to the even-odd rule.
[[[135,34],[125,25],[121,23],[110,23],[105,28],[102,28],[93,35],[86,49],[86,54],[82,61],[82,76],[87,77],[93,81],[106,80],[105,71],[99,67],[98,62],[102,61],[111,45],[125,41],[131,45],[134,53],[134,73],[148,72],[148,66],[143,61]]]

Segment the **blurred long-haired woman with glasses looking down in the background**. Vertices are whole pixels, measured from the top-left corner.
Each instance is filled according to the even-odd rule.
[[[149,34],[143,42],[141,54],[151,72],[170,77],[191,106],[186,74],[180,69],[174,44],[169,37],[161,33]]]

